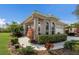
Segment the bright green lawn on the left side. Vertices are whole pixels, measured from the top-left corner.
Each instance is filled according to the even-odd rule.
[[[10,39],[9,33],[0,33],[0,55],[9,55],[8,41]]]

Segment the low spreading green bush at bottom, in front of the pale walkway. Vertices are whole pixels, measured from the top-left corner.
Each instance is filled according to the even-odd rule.
[[[26,48],[21,48],[19,51],[21,54],[24,54],[24,55],[34,54],[34,48],[31,46],[27,46]]]

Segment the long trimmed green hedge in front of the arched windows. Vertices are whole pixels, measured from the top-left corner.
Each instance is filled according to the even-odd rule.
[[[47,42],[56,43],[67,40],[67,35],[65,34],[54,34],[54,35],[39,35],[38,43],[44,44]]]

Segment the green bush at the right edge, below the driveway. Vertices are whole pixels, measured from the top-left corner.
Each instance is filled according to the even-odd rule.
[[[69,49],[69,50],[79,50],[79,40],[71,40],[67,41],[64,44],[64,48]]]

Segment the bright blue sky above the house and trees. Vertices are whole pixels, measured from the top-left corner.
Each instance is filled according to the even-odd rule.
[[[72,14],[76,6],[76,4],[0,4],[0,27],[12,21],[21,23],[34,10],[42,14],[54,15],[60,21],[71,24],[77,21],[76,16]]]

